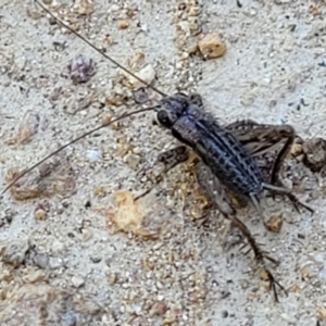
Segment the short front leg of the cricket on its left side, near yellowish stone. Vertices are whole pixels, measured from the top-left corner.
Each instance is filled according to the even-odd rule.
[[[171,150],[167,150],[159,154],[154,164],[163,163],[164,164],[163,171],[158,176],[155,176],[153,186],[147,189],[141,195],[137,196],[135,200],[138,200],[145,197],[146,195],[148,195],[150,191],[152,191],[152,189],[163,180],[164,174],[166,174],[170,170],[174,168],[179,163],[187,161],[188,158],[189,158],[189,153],[186,146],[178,146],[176,148],[173,148]]]

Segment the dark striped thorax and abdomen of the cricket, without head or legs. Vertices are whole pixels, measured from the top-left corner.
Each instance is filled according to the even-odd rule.
[[[216,122],[185,114],[172,130],[231,191],[243,197],[262,191],[263,178],[256,162],[235,136]]]

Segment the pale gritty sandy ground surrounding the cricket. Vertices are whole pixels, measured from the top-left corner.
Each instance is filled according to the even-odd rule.
[[[151,64],[154,85],[165,93],[199,92],[221,124],[288,123],[303,139],[326,137],[325,1],[202,1],[200,11],[195,1],[88,2],[75,7],[87,15],[70,12],[68,1],[50,8],[121,64]],[[10,168],[30,166],[137,104],[120,70],[33,1],[2,0],[0,8],[4,187]],[[221,34],[227,51],[213,60],[189,57],[196,36],[188,37],[188,29]],[[74,84],[67,68],[79,54],[95,63],[86,84]],[[152,90],[149,97],[150,104],[160,98]],[[126,118],[70,147],[25,178],[25,191],[16,188],[21,199],[34,198],[4,195],[1,325],[323,325],[321,175],[286,163],[285,181],[299,184],[297,193],[315,214],[298,213],[284,199],[263,199],[266,216],[284,218],[279,234],[256,222],[254,209],[239,210],[280,262],[273,271],[289,296],[279,293],[275,303],[252,256],[234,246],[229,224],[217,212],[204,225],[195,221],[202,202],[191,165],[175,167],[139,202],[130,197],[128,191],[150,186],[137,171],[151,171],[158,154],[177,143],[152,117]]]

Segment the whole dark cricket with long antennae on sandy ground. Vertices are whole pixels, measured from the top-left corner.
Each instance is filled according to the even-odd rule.
[[[58,154],[72,143],[128,116],[154,111],[156,113],[158,123],[162,127],[170,129],[172,136],[184,143],[159,156],[159,160],[165,164],[164,172],[178,163],[186,161],[188,159],[189,149],[196,152],[199,156],[199,160],[196,163],[196,174],[199,185],[213,205],[240,229],[250,246],[250,251],[253,251],[256,262],[265,271],[271,287],[273,288],[275,300],[278,301],[276,287],[278,286],[280,290],[285,293],[287,292],[273,276],[272,272],[266,266],[265,261],[268,260],[275,264],[278,264],[278,262],[259,247],[248,227],[237,217],[236,210],[233,208],[230,198],[226,191],[230,191],[236,196],[250,201],[263,221],[263,211],[259,198],[265,189],[273,193],[287,196],[298,211],[299,205],[302,205],[313,212],[311,208],[301,203],[292,191],[283,185],[279,178],[281,163],[289,153],[291,145],[294,141],[294,129],[290,125],[267,125],[259,124],[253,121],[239,121],[226,126],[221,126],[212,114],[203,110],[203,102],[199,95],[192,93],[188,96],[183,92],[177,92],[167,96],[153,85],[148,85],[137,75],[113,60],[110,55],[96,48],[90,41],[77,34],[68,25],[57,18],[38,0],[35,0],[35,2],[57,23],[76,35],[114,65],[138,79],[146,87],[151,88],[160,95],[162,99],[152,108],[142,108],[124,113],[60,147],[54,152],[18,174],[4,188],[1,195],[13,187],[23,176],[40,166],[48,159]],[[276,147],[280,147],[280,150],[277,152],[273,162],[269,176],[264,177],[255,156],[268,153]],[[148,191],[146,191],[146,193]]]

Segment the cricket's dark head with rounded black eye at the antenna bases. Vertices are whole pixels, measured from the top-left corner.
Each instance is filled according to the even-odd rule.
[[[164,97],[155,110],[158,123],[165,128],[172,128],[175,122],[187,111],[189,105],[189,97],[181,92],[171,97]]]

